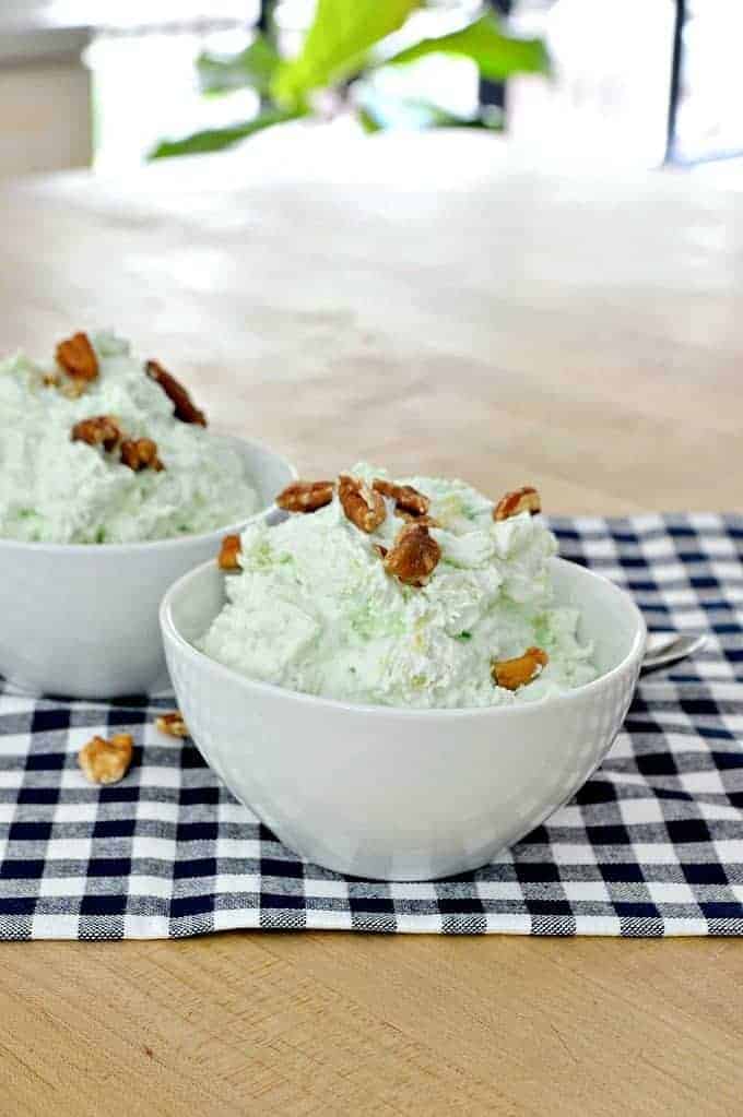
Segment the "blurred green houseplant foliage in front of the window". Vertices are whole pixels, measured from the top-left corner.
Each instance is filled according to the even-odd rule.
[[[403,67],[429,55],[467,58],[479,75],[502,82],[515,74],[546,74],[549,58],[539,39],[508,35],[490,9],[482,9],[447,34],[420,37],[411,17],[428,6],[425,0],[317,0],[314,19],[299,52],[282,58],[270,34],[259,34],[235,55],[202,54],[198,60],[201,89],[220,95],[251,88],[260,111],[251,120],[164,140],[152,159],[220,151],[264,128],[327,106],[354,113],[366,131],[389,125],[389,114],[378,111],[373,78],[385,67]],[[419,125],[498,126],[497,118],[478,114],[458,117],[439,106],[411,103]]]

